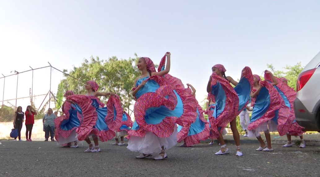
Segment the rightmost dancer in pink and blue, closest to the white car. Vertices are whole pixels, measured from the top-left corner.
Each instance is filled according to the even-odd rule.
[[[270,75],[265,75],[265,79],[270,81]],[[280,96],[284,100],[285,105],[289,108],[286,111],[287,117],[289,118],[289,121],[292,120],[292,116],[294,115],[294,108],[293,108],[293,101],[296,98],[296,92],[288,85],[288,80],[284,77],[276,78],[278,81],[278,85],[276,85],[276,89],[279,92]],[[290,111],[290,112],[289,112]],[[306,143],[303,140],[303,133],[305,133],[303,130],[303,127],[301,127],[295,119],[293,119],[290,129],[287,132],[287,139],[288,142],[284,144],[282,147],[292,147],[292,141],[291,136],[300,136],[300,148],[306,147]]]

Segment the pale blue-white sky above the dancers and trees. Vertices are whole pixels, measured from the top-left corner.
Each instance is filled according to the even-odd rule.
[[[47,62],[71,69],[91,55],[127,59],[137,53],[159,63],[170,51],[170,74],[194,85],[202,101],[214,64],[234,79],[244,66],[260,75],[267,63],[279,70],[306,65],[320,51],[319,9],[316,0],[0,1],[0,74]],[[36,75],[37,93],[47,93],[41,86],[47,74]],[[18,95],[28,96],[28,78]],[[56,88],[62,76],[53,79]],[[11,80],[7,98],[15,98]],[[2,100],[1,79],[0,87]]]

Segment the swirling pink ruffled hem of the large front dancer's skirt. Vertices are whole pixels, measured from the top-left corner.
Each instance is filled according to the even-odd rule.
[[[164,66],[165,58],[166,57],[164,56],[161,59],[161,64],[159,65],[158,70],[161,70],[162,66]],[[184,88],[180,79],[169,74],[164,75],[164,77],[152,76],[147,80],[151,79],[155,80],[160,87],[155,93],[144,93],[136,100],[134,105],[134,115],[140,129],[130,130],[128,132],[128,137],[131,135],[143,137],[148,131],[153,132],[158,137],[169,137],[172,135],[174,127],[176,126],[175,123],[184,125],[191,124],[196,121],[196,99],[188,92],[188,89]],[[144,118],[148,108],[165,106],[170,110],[174,110],[178,100],[173,90],[178,93],[182,100],[183,114],[180,117],[165,117],[162,122],[158,124],[147,124]],[[166,96],[168,96],[168,98],[165,98]]]

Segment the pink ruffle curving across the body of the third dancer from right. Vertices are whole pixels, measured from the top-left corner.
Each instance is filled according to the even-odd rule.
[[[236,118],[238,115],[239,98],[234,88],[229,84],[228,80],[221,78],[215,72],[212,73],[211,87],[219,82],[226,93],[226,102],[223,112],[214,118],[212,114],[209,114],[209,120],[211,123],[211,132],[216,138],[219,137],[218,127],[221,127],[222,131],[229,122]],[[208,94],[210,99],[215,99],[215,96],[210,92]]]

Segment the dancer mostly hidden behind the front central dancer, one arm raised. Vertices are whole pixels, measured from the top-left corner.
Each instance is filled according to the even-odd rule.
[[[191,85],[187,84],[191,88],[191,95],[195,96],[196,89]],[[204,119],[202,107],[197,103],[197,119],[196,122],[191,123],[187,127],[181,125],[178,126],[178,142],[183,140],[183,144],[180,146],[192,147],[195,144],[199,144],[200,141],[208,139],[210,136],[209,122]]]

